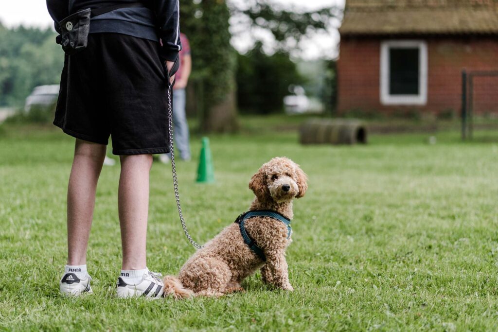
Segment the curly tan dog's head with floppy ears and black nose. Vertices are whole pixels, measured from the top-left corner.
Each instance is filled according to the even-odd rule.
[[[308,184],[306,174],[298,164],[285,157],[275,157],[263,164],[249,182],[259,202],[273,200],[276,203],[301,198]]]

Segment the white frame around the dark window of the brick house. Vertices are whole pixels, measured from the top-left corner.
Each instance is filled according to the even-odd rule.
[[[389,94],[389,49],[417,47],[418,95]],[[380,103],[382,105],[426,105],[427,104],[427,44],[423,40],[387,40],[380,43]]]

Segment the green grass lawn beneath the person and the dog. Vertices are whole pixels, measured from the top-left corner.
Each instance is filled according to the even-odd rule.
[[[309,190],[294,205],[287,252],[295,291],[271,290],[257,273],[243,294],[147,301],[113,297],[119,166],[104,168],[97,193],[88,252],[94,294],[65,298],[58,278],[73,139],[57,129],[0,127],[0,330],[498,329],[496,141],[461,143],[449,131],[434,145],[428,134],[405,134],[304,147],[294,132],[256,129],[211,137],[213,185],[194,181],[200,140],[193,138],[193,161],[178,162],[184,215],[193,237],[207,241],[248,209],[249,178],[262,163],[273,156],[299,163]],[[148,267],[176,274],[193,252],[170,167],[154,164]]]

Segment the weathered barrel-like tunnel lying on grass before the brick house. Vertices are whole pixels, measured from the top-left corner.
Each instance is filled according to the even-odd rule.
[[[355,119],[311,119],[300,128],[301,144],[367,143],[367,127]]]

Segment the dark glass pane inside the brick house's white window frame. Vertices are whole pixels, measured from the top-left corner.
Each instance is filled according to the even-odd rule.
[[[389,94],[418,95],[418,56],[413,48],[389,49]]]

